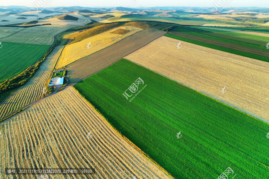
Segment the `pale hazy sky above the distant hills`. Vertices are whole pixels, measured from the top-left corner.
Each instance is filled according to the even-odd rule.
[[[189,6],[189,7],[213,7],[215,1],[228,2],[232,7],[269,7],[269,0],[0,0],[0,6],[27,6],[33,7],[37,1],[49,2],[52,7],[56,6],[82,6],[82,7],[155,7],[155,6]]]

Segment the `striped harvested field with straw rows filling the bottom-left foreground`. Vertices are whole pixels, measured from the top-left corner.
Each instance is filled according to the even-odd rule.
[[[128,179],[134,176],[169,179],[121,138],[72,87],[0,125],[2,167],[92,166],[96,170],[95,175],[54,175],[54,179]],[[88,132],[91,132],[90,138]],[[7,179],[30,178],[30,175],[11,176],[0,174],[0,178]]]

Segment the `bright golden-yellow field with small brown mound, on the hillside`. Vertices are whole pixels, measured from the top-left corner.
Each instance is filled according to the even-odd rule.
[[[117,29],[126,29],[126,30],[129,30],[130,32],[124,35],[111,34],[111,32]],[[137,33],[141,30],[142,29],[136,28],[136,27],[118,27],[118,28],[109,30],[107,32],[86,38],[80,42],[69,44],[64,48],[63,53],[61,57],[59,58],[59,61],[56,65],[56,68],[64,67],[65,65],[70,64],[76,61],[77,59],[90,55],[103,48],[106,48],[116,43],[117,41],[120,41],[121,39],[127,36],[130,36],[134,33]],[[89,42],[91,42],[91,44],[89,45],[90,48],[88,49],[87,44]]]

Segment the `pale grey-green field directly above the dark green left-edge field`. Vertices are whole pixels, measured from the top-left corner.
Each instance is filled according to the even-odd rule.
[[[51,45],[54,41],[54,36],[56,34],[72,27],[75,26],[44,25],[36,27],[27,27],[17,33],[12,34],[11,36],[2,38],[1,41],[23,44]]]

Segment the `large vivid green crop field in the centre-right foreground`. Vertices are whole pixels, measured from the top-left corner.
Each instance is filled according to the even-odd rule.
[[[138,77],[144,89],[127,100]],[[265,122],[125,59],[74,87],[178,179],[218,178],[228,166],[238,179],[269,177]]]

